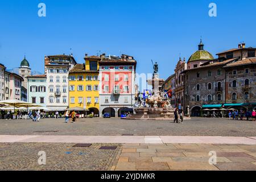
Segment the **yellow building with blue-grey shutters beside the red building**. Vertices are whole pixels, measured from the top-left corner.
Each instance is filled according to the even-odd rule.
[[[76,64],[69,72],[69,108],[89,109],[88,114],[99,115],[98,56],[85,56],[84,64]]]

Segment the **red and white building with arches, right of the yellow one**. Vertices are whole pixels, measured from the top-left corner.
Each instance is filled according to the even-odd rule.
[[[120,117],[133,112],[135,102],[135,69],[133,56],[101,55],[100,61],[100,115],[110,113]]]

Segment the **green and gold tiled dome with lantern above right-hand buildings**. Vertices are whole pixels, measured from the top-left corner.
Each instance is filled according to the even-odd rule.
[[[212,59],[214,59],[214,57],[212,56],[211,53],[204,50],[204,44],[202,43],[202,40],[201,40],[198,47],[199,47],[198,51],[196,51],[195,53],[193,53],[189,57],[188,62],[189,61],[212,60]]]

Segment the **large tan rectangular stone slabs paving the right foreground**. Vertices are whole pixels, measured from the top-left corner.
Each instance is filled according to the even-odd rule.
[[[209,152],[217,164],[209,164]],[[112,170],[256,170],[256,145],[123,144]]]

